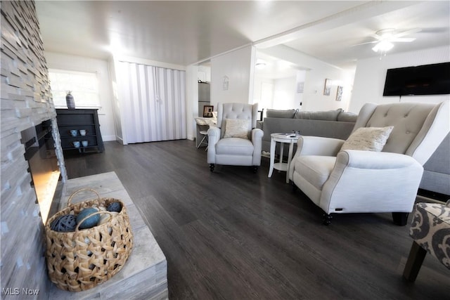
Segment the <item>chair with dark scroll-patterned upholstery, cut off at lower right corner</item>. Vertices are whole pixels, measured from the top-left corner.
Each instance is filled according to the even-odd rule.
[[[413,245],[403,272],[406,280],[416,280],[427,252],[450,269],[450,200],[446,205],[416,204],[409,235]]]

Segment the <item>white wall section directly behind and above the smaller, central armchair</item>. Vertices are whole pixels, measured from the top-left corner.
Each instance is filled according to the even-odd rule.
[[[255,48],[246,46],[211,59],[211,105],[217,103],[252,103]],[[228,77],[228,89],[224,89]]]

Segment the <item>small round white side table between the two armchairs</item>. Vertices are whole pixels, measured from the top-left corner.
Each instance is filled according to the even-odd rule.
[[[286,134],[286,133],[272,133],[270,139],[270,167],[269,167],[269,176],[272,176],[272,172],[274,169],[277,169],[279,171],[285,171],[286,172],[286,183],[289,183],[289,167],[290,167],[290,161],[293,159],[293,150],[294,150],[294,143],[298,141],[299,135],[293,134]],[[280,153],[280,162],[275,162],[275,149],[276,149],[276,142],[281,143],[281,153]],[[289,154],[288,154],[288,163],[286,164],[283,162],[283,144],[289,143]]]

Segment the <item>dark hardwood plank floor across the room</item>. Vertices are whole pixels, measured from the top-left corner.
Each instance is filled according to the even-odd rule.
[[[115,171],[168,263],[170,299],[450,299],[450,270],[427,256],[416,282],[402,279],[409,226],[391,214],[337,215],[248,167],[207,164],[193,141],[65,153],[69,178]],[[380,187],[383,188],[383,187]]]

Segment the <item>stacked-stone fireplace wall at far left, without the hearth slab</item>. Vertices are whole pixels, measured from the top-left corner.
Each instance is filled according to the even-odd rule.
[[[18,299],[15,291],[27,288],[47,299],[44,224],[21,132],[46,122],[62,180],[67,176],[34,1],[1,2],[0,49],[1,298]]]

